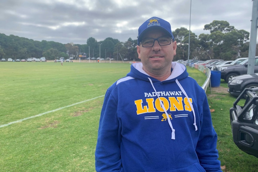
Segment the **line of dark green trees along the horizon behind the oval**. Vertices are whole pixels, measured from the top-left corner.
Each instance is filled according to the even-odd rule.
[[[239,57],[248,57],[249,32],[237,30],[230,26],[227,21],[214,20],[210,24],[204,25],[204,30],[210,34],[200,34],[197,36],[190,31],[190,51],[189,59],[209,60],[223,59],[235,60]],[[189,30],[177,28],[173,31],[177,41],[177,55],[174,60],[188,59]],[[86,44],[67,43],[62,44],[54,41],[34,41],[24,37],[0,34],[0,58],[27,59],[29,57],[46,57],[47,60],[54,60],[59,57],[79,57],[80,53],[87,57],[114,58],[122,60],[128,58],[137,61],[137,38],[129,38],[126,42],[118,39],[106,38],[97,41],[90,37]],[[258,51],[257,51],[258,52]],[[84,59],[86,57],[81,57]]]

